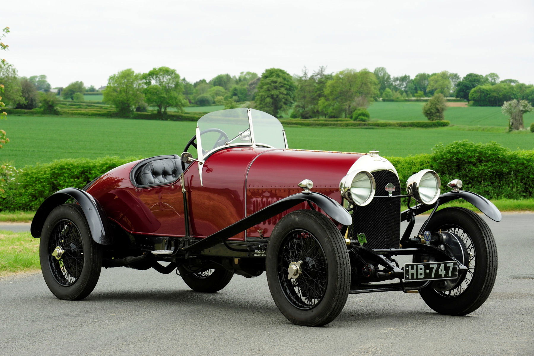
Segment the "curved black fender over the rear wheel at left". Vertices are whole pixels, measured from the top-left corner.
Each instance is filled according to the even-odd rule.
[[[32,227],[30,232],[34,238],[39,238],[43,230],[44,221],[50,214],[52,209],[58,205],[64,204],[70,198],[76,200],[87,219],[89,231],[95,242],[102,245],[112,244],[111,225],[107,219],[104,209],[100,206],[98,201],[89,193],[78,188],[65,188],[50,195],[41,204],[32,220]]]

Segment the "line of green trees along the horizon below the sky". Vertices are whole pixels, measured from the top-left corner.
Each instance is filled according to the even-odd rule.
[[[55,112],[57,97],[83,101],[84,92],[95,92],[75,81],[51,92],[45,75],[18,77],[17,70],[6,62],[0,64],[0,82],[6,86],[3,101],[14,108],[32,109],[41,106],[44,112]],[[42,92],[39,94],[38,92]],[[496,73],[469,73],[461,78],[446,70],[391,76],[387,69],[343,69],[328,73],[326,67],[300,75],[290,75],[280,68],[266,69],[262,75],[241,72],[239,75],[219,74],[189,82],[176,69],[153,68],[147,73],[124,69],[109,76],[103,90],[104,102],[115,107],[119,115],[134,111],[146,112],[148,107],[165,115],[168,108],[182,110],[188,105],[224,105],[225,108],[254,106],[274,116],[285,115],[292,108],[294,118],[351,117],[366,120],[371,102],[403,101],[441,94],[471,101],[475,106],[502,106],[505,101],[534,102],[534,85],[517,80],[500,80]],[[435,116],[438,117],[438,116]]]

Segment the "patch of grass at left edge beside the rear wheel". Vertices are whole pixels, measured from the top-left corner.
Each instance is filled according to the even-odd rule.
[[[0,231],[0,277],[39,268],[39,239],[29,232]]]

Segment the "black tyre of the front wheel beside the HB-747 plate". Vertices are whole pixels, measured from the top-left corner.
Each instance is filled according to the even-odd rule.
[[[488,224],[471,210],[459,207],[437,211],[427,225],[428,231],[449,231],[464,241],[469,255],[465,279],[452,290],[421,289],[425,303],[446,315],[469,314],[490,295],[497,276],[497,247]]]

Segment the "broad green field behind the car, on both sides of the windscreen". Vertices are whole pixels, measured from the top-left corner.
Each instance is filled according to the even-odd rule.
[[[63,116],[10,116],[0,124],[11,139],[0,151],[0,163],[10,162],[17,168],[61,158],[180,154],[194,135],[196,125],[195,122]],[[383,156],[430,153],[438,143],[463,139],[477,143],[497,141],[511,149],[534,148],[534,134],[530,132],[468,131],[454,126],[287,128],[286,133],[291,148],[353,152],[378,149]]]

